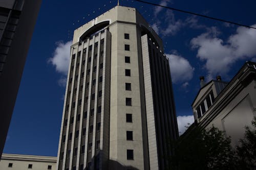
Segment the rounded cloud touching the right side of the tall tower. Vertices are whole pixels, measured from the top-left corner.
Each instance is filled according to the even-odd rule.
[[[187,59],[175,54],[167,54],[166,57],[169,59],[173,83],[187,82],[193,78],[195,68]]]

